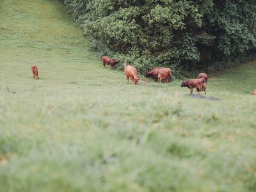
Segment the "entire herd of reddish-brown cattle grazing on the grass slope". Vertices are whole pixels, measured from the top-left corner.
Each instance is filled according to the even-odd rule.
[[[110,68],[114,68],[114,66],[119,63],[118,60],[113,60],[109,58],[108,56],[102,57],[102,65],[104,68],[106,68],[106,65],[110,65]],[[31,71],[33,73],[34,79],[39,79],[38,77],[38,67],[36,65],[31,66]],[[134,84],[138,85],[138,81],[140,78],[138,77],[137,69],[131,65],[127,65],[125,63],[124,68],[125,76],[127,77],[127,81],[129,83],[129,78],[131,81],[134,82]],[[170,82],[170,79],[172,79],[172,70],[170,68],[166,67],[155,67],[152,70],[148,71],[145,75],[146,77],[153,77],[156,78],[159,83],[161,83],[163,80],[166,83]],[[197,77],[197,79],[189,79],[188,81],[183,81],[180,86],[181,87],[187,87],[190,90],[190,94],[193,93],[193,89],[196,88],[196,91],[199,92],[199,94],[204,91],[206,94],[206,86],[208,76],[205,73],[200,73]],[[256,95],[256,90],[252,92],[252,95]]]

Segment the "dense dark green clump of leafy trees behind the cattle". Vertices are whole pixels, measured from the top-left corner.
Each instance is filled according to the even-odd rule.
[[[218,70],[256,52],[253,0],[63,0],[93,49],[154,65]]]

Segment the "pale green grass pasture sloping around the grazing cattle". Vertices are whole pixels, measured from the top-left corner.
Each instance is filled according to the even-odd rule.
[[[60,5],[1,0],[0,75],[0,191],[256,189],[255,62],[211,74],[206,99],[134,86]]]

